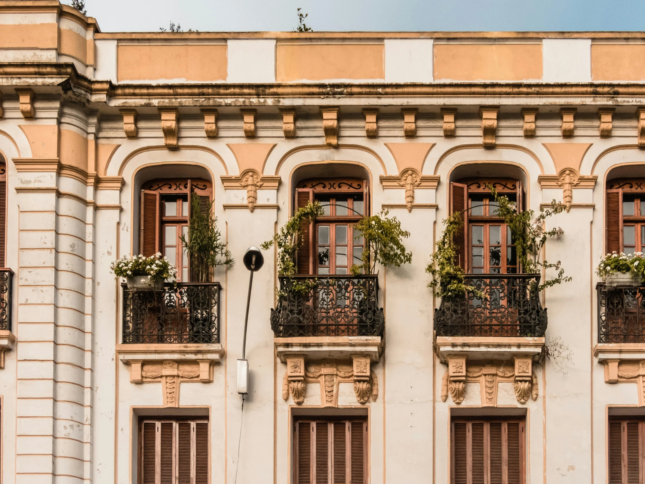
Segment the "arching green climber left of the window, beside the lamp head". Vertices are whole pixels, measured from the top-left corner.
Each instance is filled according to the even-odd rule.
[[[295,254],[302,243],[300,224],[303,221],[312,223],[315,217],[323,215],[323,207],[318,202],[309,202],[306,207],[298,208],[293,216],[275,234],[271,240],[264,242],[261,247],[268,250],[273,244],[278,249],[278,274],[280,276],[293,276],[297,272]]]

